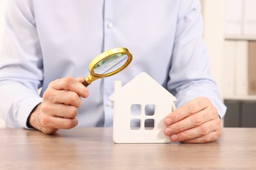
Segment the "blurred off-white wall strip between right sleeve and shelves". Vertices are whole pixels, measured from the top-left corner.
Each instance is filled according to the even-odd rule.
[[[210,73],[223,97],[223,56],[225,1],[201,0],[204,22],[203,39],[210,58]]]

